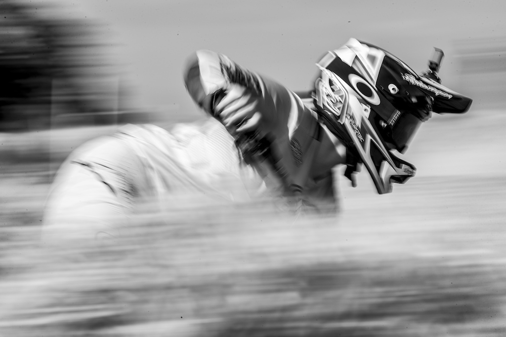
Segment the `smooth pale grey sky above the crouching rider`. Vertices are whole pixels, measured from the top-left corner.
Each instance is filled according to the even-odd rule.
[[[115,45],[140,108],[199,116],[182,82],[185,61],[198,49],[221,52],[293,90],[310,88],[315,62],[355,37],[383,47],[416,71],[432,47],[446,54],[443,84],[460,91],[456,45],[501,39],[499,1],[39,0],[63,15],[103,25]],[[461,92],[471,95],[470,92]]]

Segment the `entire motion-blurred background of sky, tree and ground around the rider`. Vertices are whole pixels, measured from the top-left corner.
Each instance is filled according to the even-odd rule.
[[[0,3],[0,335],[502,336],[506,22],[499,1]],[[205,118],[182,81],[198,49],[293,90],[355,37],[474,99],[434,116],[378,196],[336,186],[335,218],[263,204],[147,209],[116,248],[38,245],[56,169],[125,123]],[[340,170],[340,169],[338,169]],[[338,172],[340,173],[340,172]],[[188,200],[182,196],[181,200]]]

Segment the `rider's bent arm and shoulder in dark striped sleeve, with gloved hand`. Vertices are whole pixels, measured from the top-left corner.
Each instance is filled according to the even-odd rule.
[[[278,180],[284,196],[335,206],[332,168],[345,163],[346,149],[297,94],[205,50],[190,58],[184,79],[195,103],[223,123],[267,185]],[[266,150],[270,158],[258,155]]]

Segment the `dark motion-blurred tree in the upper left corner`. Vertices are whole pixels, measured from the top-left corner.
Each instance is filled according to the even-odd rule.
[[[62,111],[113,108],[115,77],[98,25],[59,13],[20,0],[0,2],[1,130],[44,128]]]

